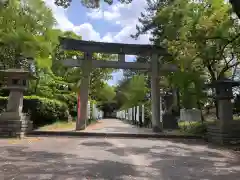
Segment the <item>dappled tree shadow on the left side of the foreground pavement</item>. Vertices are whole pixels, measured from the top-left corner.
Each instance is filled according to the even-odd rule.
[[[32,151],[26,147],[1,147],[0,179],[4,180],[120,180],[139,173],[133,165],[89,159],[67,153]]]

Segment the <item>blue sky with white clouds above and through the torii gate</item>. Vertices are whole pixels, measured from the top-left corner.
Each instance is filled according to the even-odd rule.
[[[136,25],[141,12],[144,12],[146,0],[133,0],[130,4],[121,4],[115,0],[109,6],[102,3],[99,9],[88,9],[81,5],[80,0],[72,0],[68,9],[54,4],[54,0],[44,0],[57,20],[57,28],[73,31],[82,36],[83,40],[117,42],[126,44],[150,44],[149,34],[137,40],[130,37],[136,33]],[[102,1],[102,0],[101,0]],[[134,56],[127,56],[126,61],[134,61]],[[113,73],[109,85],[117,84],[122,78],[122,71]]]

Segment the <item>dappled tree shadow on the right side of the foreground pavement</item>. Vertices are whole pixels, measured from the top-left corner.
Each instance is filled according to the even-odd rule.
[[[168,142],[167,145],[163,143],[148,147],[131,144],[125,148],[110,148],[107,151],[118,156],[134,154],[145,157],[150,164],[148,167],[158,171],[163,180],[239,179],[238,154],[196,143]]]

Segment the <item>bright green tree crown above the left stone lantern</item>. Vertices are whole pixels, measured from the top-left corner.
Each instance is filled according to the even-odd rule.
[[[57,44],[54,24],[52,12],[41,0],[10,0],[0,11],[2,66],[24,66],[22,55],[34,58],[41,66],[50,66],[49,55]]]

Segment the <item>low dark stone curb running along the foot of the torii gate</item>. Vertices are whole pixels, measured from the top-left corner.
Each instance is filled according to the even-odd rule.
[[[27,137],[108,137],[108,138],[169,138],[169,139],[203,139],[197,135],[174,135],[174,134],[134,134],[134,133],[96,133],[96,132],[69,132],[69,131],[33,131],[26,134]]]

